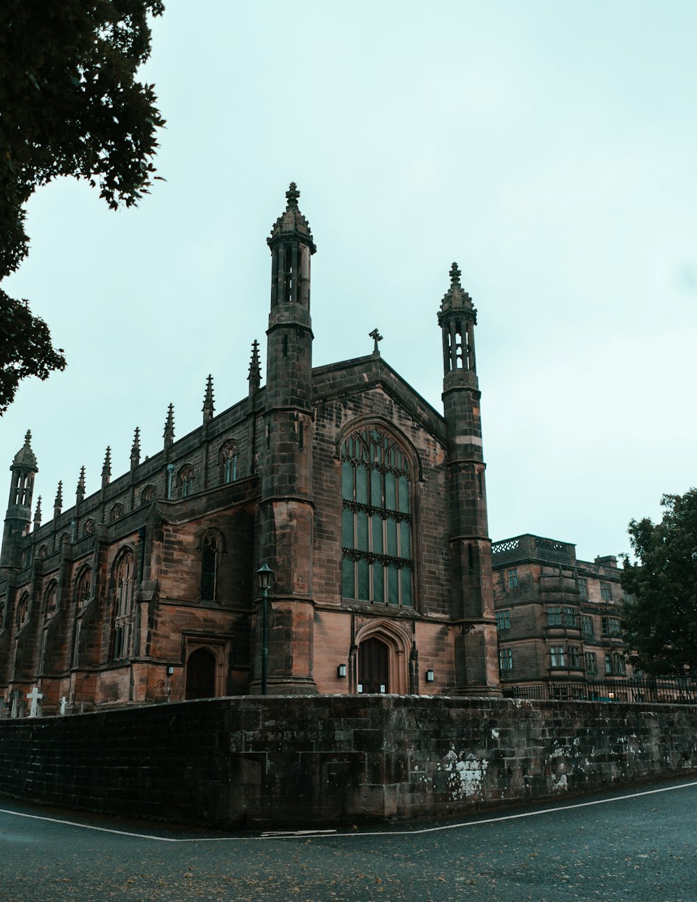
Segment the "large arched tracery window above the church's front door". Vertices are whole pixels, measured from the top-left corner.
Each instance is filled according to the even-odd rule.
[[[380,428],[353,432],[342,456],[342,595],[413,604],[408,458]]]

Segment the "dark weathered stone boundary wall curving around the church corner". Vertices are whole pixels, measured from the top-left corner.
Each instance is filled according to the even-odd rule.
[[[244,696],[0,721],[0,795],[219,826],[358,824],[697,772],[697,707]]]

